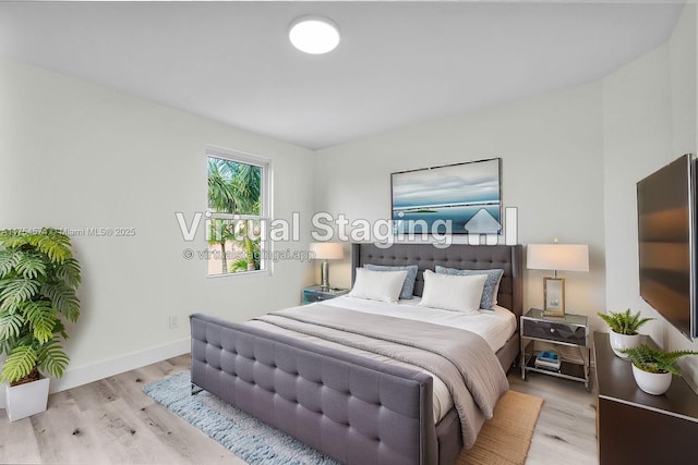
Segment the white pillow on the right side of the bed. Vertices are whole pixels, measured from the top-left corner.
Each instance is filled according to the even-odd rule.
[[[456,276],[424,271],[422,307],[478,314],[486,274]]]

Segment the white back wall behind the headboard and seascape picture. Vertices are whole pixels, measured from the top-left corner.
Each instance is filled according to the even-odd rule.
[[[316,207],[350,221],[390,217],[390,172],[502,158],[505,206],[518,207],[522,244],[590,246],[589,273],[564,273],[567,307],[605,308],[601,85],[587,84],[320,150]],[[543,271],[529,271],[525,304],[542,305]],[[348,260],[333,284],[350,284]]]

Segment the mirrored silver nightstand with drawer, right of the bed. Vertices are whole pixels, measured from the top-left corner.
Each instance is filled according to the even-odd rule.
[[[535,371],[583,382],[587,391],[589,390],[589,325],[586,316],[573,314],[559,317],[543,316],[543,310],[531,308],[521,316],[520,335],[522,379],[526,379],[528,371]],[[534,341],[577,347],[581,362],[566,359],[564,354],[558,354],[562,357],[558,369],[537,367],[535,357],[540,351],[537,352],[533,348]]]

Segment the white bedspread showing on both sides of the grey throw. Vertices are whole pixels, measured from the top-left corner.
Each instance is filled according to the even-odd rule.
[[[435,308],[420,307],[417,304],[420,302],[419,297],[414,297],[408,301],[399,301],[397,304],[388,304],[377,301],[368,301],[363,298],[354,298],[349,296],[341,296],[329,301],[323,301],[323,305],[336,306],[340,308],[347,308],[356,311],[363,311],[369,314],[387,315],[392,317],[406,318],[410,320],[426,321],[434,325],[448,326],[453,328],[465,329],[476,334],[481,335],[490,345],[493,352],[498,351],[504,346],[506,341],[514,334],[516,330],[516,316],[504,307],[495,306],[495,310],[481,310],[479,315],[466,315],[457,311],[440,310]],[[311,304],[314,305],[314,304]],[[302,339],[308,342],[317,343],[322,345],[335,346],[336,344],[323,341],[312,335],[306,335],[298,332],[292,332],[282,328],[277,328],[272,325],[267,325],[263,321],[251,320],[245,325],[253,325],[255,327],[282,333],[291,333],[297,339]],[[337,347],[339,348],[339,347]],[[341,350],[348,351],[362,356],[385,362],[396,365],[406,365],[401,362],[396,362],[392,358],[373,354],[370,352],[361,351],[358,348],[340,346]],[[434,423],[440,421],[450,408],[454,403],[448,392],[446,384],[433,374],[422,370],[432,376],[434,379]]]

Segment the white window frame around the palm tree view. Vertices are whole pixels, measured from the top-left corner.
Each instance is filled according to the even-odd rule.
[[[204,205],[206,206],[206,217],[210,220],[260,220],[261,227],[261,241],[260,241],[260,269],[254,271],[238,271],[209,274],[208,273],[208,260],[206,261],[206,277],[207,278],[250,278],[260,276],[270,276],[273,272],[273,260],[269,257],[274,256],[273,242],[269,240],[268,224],[272,221],[272,160],[268,158],[260,157],[257,155],[243,152],[240,150],[231,150],[221,147],[206,147],[206,180],[208,176],[208,158],[219,158],[222,160],[232,161],[236,163],[251,164],[260,167],[261,173],[261,187],[260,187],[260,216],[254,215],[230,215],[230,213],[216,213],[208,208],[208,182],[206,182],[206,198]],[[207,229],[208,230],[208,229]],[[206,232],[207,234],[208,232]],[[208,246],[208,242],[206,242]]]

